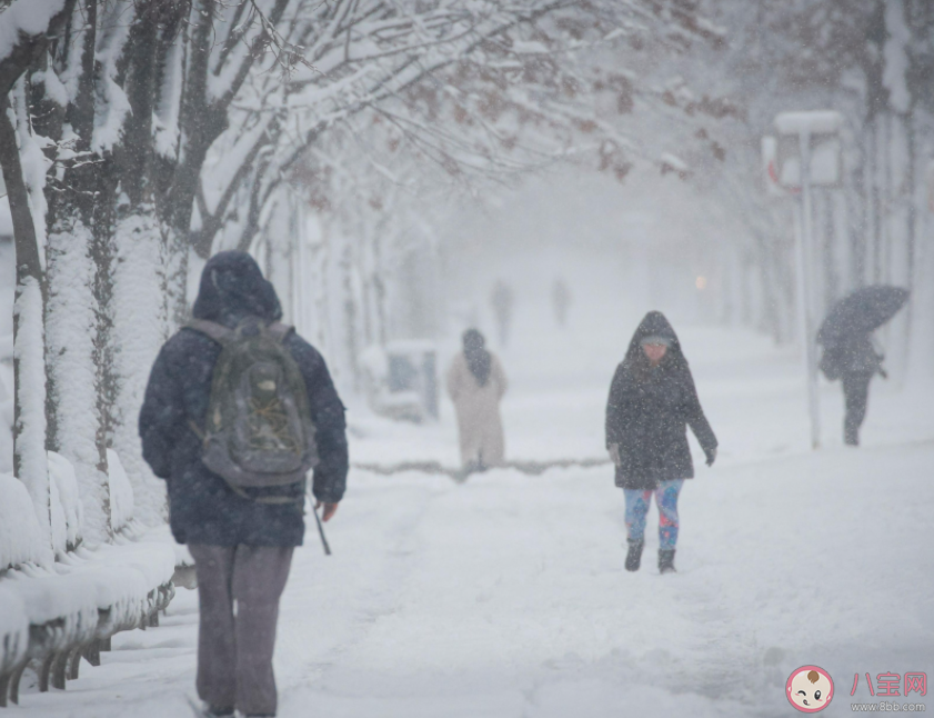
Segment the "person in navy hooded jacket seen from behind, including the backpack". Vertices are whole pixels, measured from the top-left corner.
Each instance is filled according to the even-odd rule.
[[[328,521],[347,485],[344,407],[321,355],[279,322],[275,290],[248,253],[208,261],[193,316],[152,367],[143,458],[195,560],[203,715],[274,716],[275,624],[304,537],[304,477],[313,467]]]

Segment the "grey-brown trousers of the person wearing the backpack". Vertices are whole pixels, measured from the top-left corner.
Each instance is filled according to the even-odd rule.
[[[215,708],[275,715],[272,651],[292,548],[189,545],[198,574],[198,695]]]

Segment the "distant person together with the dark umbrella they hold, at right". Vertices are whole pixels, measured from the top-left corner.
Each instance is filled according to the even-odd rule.
[[[908,290],[900,287],[863,287],[840,300],[817,332],[817,342],[824,347],[821,371],[843,383],[846,446],[860,446],[872,378],[877,373],[887,377],[882,368],[884,356],[876,352],[872,332],[892,319],[907,299]]]

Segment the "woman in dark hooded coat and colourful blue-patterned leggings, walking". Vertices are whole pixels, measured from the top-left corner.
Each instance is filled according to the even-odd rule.
[[[677,497],[684,479],[694,476],[687,426],[712,466],[716,437],[701,409],[681,343],[665,316],[650,311],[616,367],[606,402],[606,449],[626,501],[627,571],[639,570],[642,560],[653,492],[659,507],[659,571],[674,570]]]

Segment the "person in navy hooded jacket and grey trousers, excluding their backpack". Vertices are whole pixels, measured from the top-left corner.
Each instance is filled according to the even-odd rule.
[[[253,258],[227,251],[205,265],[193,315],[233,329],[244,320],[277,321],[282,310]],[[294,332],[284,346],[308,391],[319,453],[312,492],[327,521],[347,483],[344,407],[321,355]],[[275,621],[292,550],[304,536],[304,487],[247,489],[250,496],[243,497],[201,461],[202,443],[192,426],[205,426],[220,352],[218,342],[191,328],[169,339],[152,367],[139,432],[143,458],[168,485],[172,535],[195,560],[201,609],[197,685],[205,715],[232,716],[239,709],[247,716],[274,716]],[[253,500],[269,493],[293,500]]]

